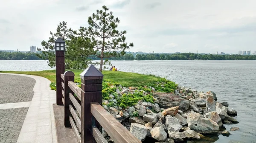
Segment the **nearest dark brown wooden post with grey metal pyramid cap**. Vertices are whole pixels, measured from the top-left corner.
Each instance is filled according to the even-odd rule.
[[[102,79],[103,74],[93,64],[81,74],[81,143],[96,143],[92,135],[92,125],[102,127],[94,121],[90,112],[90,103],[98,102],[102,105]]]

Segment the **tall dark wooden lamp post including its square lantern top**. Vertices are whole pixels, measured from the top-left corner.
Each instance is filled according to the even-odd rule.
[[[65,72],[65,41],[58,38],[55,41],[56,55],[56,104],[62,105],[61,74]]]

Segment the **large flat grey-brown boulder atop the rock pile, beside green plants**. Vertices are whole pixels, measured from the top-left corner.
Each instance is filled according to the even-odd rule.
[[[153,93],[153,96],[159,100],[159,106],[165,109],[179,106],[181,101],[186,101],[173,93]]]

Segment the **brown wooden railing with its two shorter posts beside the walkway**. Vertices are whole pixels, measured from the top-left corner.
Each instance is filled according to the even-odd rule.
[[[102,127],[115,143],[141,143],[102,107],[102,73],[91,65],[80,76],[81,88],[72,71],[61,74],[64,126],[72,127],[78,143],[108,143]]]

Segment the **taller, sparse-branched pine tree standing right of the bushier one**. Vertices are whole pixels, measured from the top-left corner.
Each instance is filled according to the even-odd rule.
[[[102,10],[96,10],[96,14],[92,14],[88,18],[88,28],[86,34],[89,35],[93,42],[93,55],[100,58],[99,70],[102,71],[103,64],[108,62],[107,58],[115,56],[123,56],[125,50],[133,47],[134,44],[125,42],[126,31],[118,31],[118,17],[113,16],[113,12],[108,12],[109,8],[102,6]],[[103,59],[105,62],[103,63]]]

